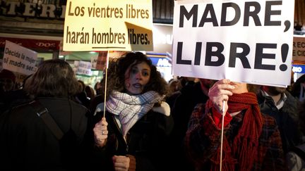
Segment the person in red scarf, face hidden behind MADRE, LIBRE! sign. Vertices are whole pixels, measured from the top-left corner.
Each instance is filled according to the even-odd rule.
[[[276,122],[260,112],[246,83],[219,80],[208,96],[194,108],[184,141],[196,170],[220,170],[221,143],[222,170],[285,170]]]

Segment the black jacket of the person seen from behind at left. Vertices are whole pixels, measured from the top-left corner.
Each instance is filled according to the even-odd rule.
[[[38,101],[49,110],[49,115],[62,132],[66,133],[70,128],[73,130],[76,134],[75,143],[80,146],[87,128],[88,120],[85,114],[88,110],[73,101],[70,101],[70,106],[68,99],[41,98]],[[67,168],[66,163],[63,163],[65,159],[59,140],[28,103],[0,116],[0,151],[0,170]]]

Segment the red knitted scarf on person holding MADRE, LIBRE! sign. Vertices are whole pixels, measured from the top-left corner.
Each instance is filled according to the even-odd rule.
[[[207,107],[212,107],[209,101]],[[263,127],[263,119],[258,107],[256,94],[244,93],[229,96],[228,113],[246,110],[239,132],[229,146],[224,136],[222,144],[222,170],[251,170],[258,156],[258,139]],[[220,146],[212,158],[211,170],[220,170]],[[237,165],[235,165],[237,163]]]

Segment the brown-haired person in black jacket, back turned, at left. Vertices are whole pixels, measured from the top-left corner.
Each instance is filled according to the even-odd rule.
[[[26,103],[0,115],[0,170],[79,168],[88,110],[71,101],[79,91],[71,66],[59,59],[43,61],[24,89],[40,106]],[[61,129],[62,139],[44,122],[45,115]]]

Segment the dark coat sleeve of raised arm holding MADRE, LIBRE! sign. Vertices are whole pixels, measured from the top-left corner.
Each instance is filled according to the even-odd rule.
[[[184,139],[189,159],[197,167],[204,165],[216,153],[220,145],[220,136],[221,129],[215,125],[213,115],[208,110],[205,113],[204,104],[196,106]]]

